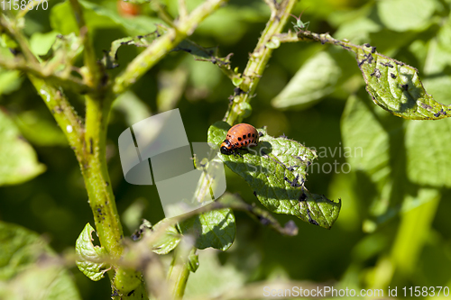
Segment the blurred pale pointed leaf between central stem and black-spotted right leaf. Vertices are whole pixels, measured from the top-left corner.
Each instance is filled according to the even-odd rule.
[[[340,74],[341,69],[335,59],[325,51],[318,52],[299,68],[289,84],[272,99],[272,106],[306,109],[334,91]]]

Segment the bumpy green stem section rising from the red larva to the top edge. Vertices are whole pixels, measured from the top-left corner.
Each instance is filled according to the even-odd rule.
[[[240,123],[244,114],[244,104],[248,104],[251,101],[251,97],[255,93],[255,89],[262,77],[263,71],[271,58],[272,47],[266,45],[280,34],[287,23],[291,10],[296,5],[297,0],[284,0],[279,5],[271,5],[272,14],[271,18],[266,23],[266,27],[262,32],[257,46],[253,50],[246,68],[243,72],[243,82],[240,84],[240,89],[244,91],[240,95],[235,95],[232,105],[230,105],[227,111],[225,121],[231,125],[234,123]]]

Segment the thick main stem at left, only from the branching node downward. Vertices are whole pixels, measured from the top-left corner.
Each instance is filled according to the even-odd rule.
[[[87,95],[85,159],[81,171],[87,188],[89,205],[96,223],[97,235],[109,259],[115,261],[124,252],[124,232],[117,214],[115,195],[106,165],[106,131],[113,96]],[[115,299],[141,299],[146,295],[141,272],[114,266],[108,272]]]

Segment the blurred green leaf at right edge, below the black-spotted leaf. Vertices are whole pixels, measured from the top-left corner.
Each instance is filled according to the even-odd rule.
[[[405,142],[407,175],[412,182],[451,187],[451,119],[411,121]]]

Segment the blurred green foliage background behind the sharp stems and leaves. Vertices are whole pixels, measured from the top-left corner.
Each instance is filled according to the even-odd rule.
[[[187,2],[190,8],[202,3]],[[99,59],[112,41],[152,32],[161,23],[151,5],[141,5],[140,14],[131,16],[118,12],[113,0],[82,3],[101,7],[86,14]],[[172,16],[178,14],[177,1],[163,3]],[[294,13],[304,12],[301,18],[313,32],[330,32],[355,44],[369,42],[382,54],[418,68],[428,93],[449,105],[450,9],[446,0],[303,0]],[[50,1],[47,10],[26,15],[25,33],[35,53],[44,54],[56,34],[73,31],[69,13],[68,3]],[[230,1],[190,39],[217,47],[222,57],[234,53],[233,68],[243,71],[269,15],[263,1]],[[1,51],[7,51],[5,45]],[[120,72],[140,51],[122,47],[120,66],[110,74]],[[284,90],[298,71],[300,79]],[[163,213],[155,186],[124,181],[119,134],[177,107],[189,141],[207,141],[207,129],[224,117],[234,87],[215,65],[171,52],[116,100],[107,159],[127,235],[140,218],[157,223]],[[68,96],[83,116],[82,97]],[[318,150],[321,169],[309,172],[306,186],[330,199],[341,198],[341,213],[330,231],[294,220],[299,234],[287,238],[236,212],[234,245],[226,252],[200,250],[200,267],[189,277],[187,296],[275,278],[349,288],[398,286],[399,295],[403,286],[451,286],[451,120],[408,121],[383,111],[364,91],[351,53],[307,42],[282,44],[274,51],[251,105],[253,113],[245,123],[267,126],[271,135],[285,134]],[[22,74],[0,69],[0,108],[0,220],[37,232],[57,252],[73,249],[85,224],[94,223],[77,159]],[[7,142],[8,134],[23,139]],[[362,151],[345,157],[346,149]],[[17,163],[21,171],[11,179],[14,152],[24,154]],[[334,163],[338,171],[329,172]],[[257,202],[241,177],[229,170],[226,177],[229,192]],[[293,219],[275,217],[281,223]],[[78,268],[70,272],[83,299],[106,298],[111,292],[107,279],[91,282]]]

